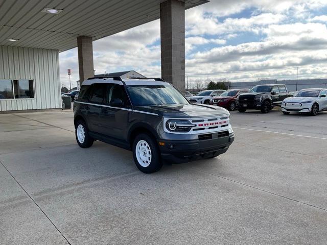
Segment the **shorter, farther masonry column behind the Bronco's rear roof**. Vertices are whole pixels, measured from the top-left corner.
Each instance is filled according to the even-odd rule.
[[[92,37],[77,37],[78,68],[80,84],[88,78],[94,77]]]

